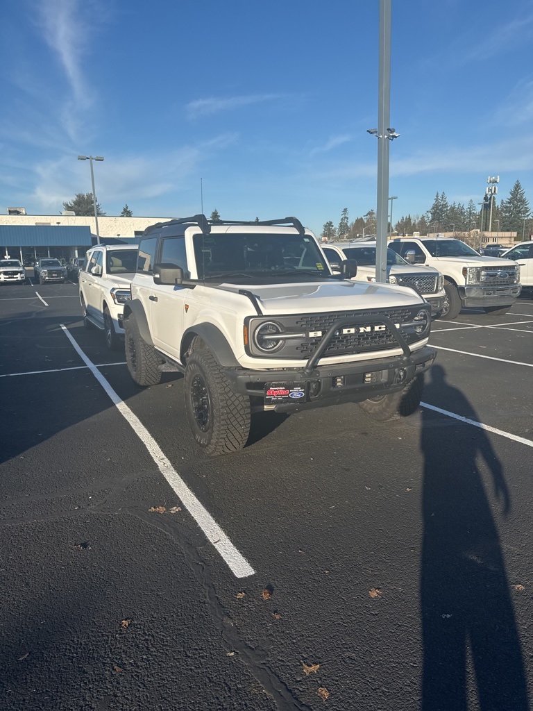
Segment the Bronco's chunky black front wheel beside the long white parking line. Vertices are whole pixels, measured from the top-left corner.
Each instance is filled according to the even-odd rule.
[[[207,349],[190,355],[184,390],[190,429],[206,454],[227,454],[244,447],[250,429],[249,397],[233,392]]]

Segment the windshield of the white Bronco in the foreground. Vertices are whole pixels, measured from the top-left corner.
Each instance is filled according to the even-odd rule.
[[[331,272],[313,237],[308,235],[233,233],[194,235],[198,279],[255,277],[298,273],[330,277]]]

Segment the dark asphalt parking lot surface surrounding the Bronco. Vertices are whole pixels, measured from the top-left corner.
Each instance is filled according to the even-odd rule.
[[[533,299],[437,321],[415,415],[215,459],[80,314],[0,289],[2,709],[529,709]]]

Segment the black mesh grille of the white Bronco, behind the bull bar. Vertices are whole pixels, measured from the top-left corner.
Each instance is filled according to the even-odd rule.
[[[414,333],[412,329],[410,333],[405,333],[401,324],[412,321],[418,311],[419,309],[416,309],[413,313],[412,309],[379,309],[377,311],[348,311],[335,314],[308,314],[298,318],[296,325],[307,333],[322,332],[325,334],[325,331],[327,331],[337,319],[345,319],[349,316],[386,316],[387,319],[391,319],[394,324],[400,324],[402,336],[404,336],[407,343],[413,343],[419,340],[420,336]],[[357,325],[360,326],[361,324]],[[387,348],[398,347],[398,342],[394,336],[392,336],[388,328],[384,329],[384,331],[349,334],[342,333],[342,330],[343,329],[337,331],[333,338],[331,338],[323,357],[345,355],[348,353],[365,353],[366,351],[381,351]],[[359,329],[357,328],[355,330],[358,331]],[[321,336],[317,336],[316,338],[310,337],[308,340],[296,346],[296,351],[301,353],[301,358],[308,358],[313,351],[316,350],[320,342]]]

